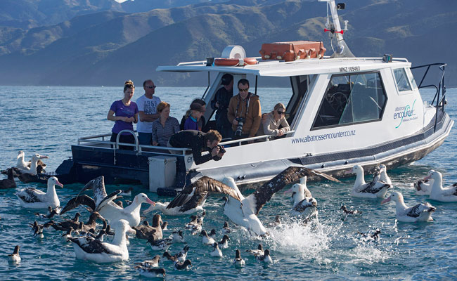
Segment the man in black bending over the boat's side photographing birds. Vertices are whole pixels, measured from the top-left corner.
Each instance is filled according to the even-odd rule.
[[[185,130],[175,133],[168,141],[169,148],[191,148],[193,162],[202,164],[210,160],[219,161],[224,156],[225,150],[219,145],[222,136],[218,131],[210,130],[207,133],[196,130]],[[210,152],[202,155],[203,151]],[[176,153],[170,150],[172,153]],[[186,164],[184,157],[179,157],[176,162],[176,188],[183,188],[186,179]]]

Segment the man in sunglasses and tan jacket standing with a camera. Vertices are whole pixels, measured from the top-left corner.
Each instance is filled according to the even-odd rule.
[[[249,92],[249,81],[238,81],[238,95],[230,99],[227,113],[234,139],[255,136],[262,120],[259,96]],[[254,143],[254,141],[249,141]]]

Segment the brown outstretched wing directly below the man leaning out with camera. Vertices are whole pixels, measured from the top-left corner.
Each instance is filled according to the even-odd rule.
[[[181,190],[181,192],[174,197],[172,202],[169,202],[167,209],[181,207],[179,211],[182,212],[194,209],[206,200],[208,195],[214,193],[229,195],[240,201],[240,197],[231,187],[214,178],[203,176]]]

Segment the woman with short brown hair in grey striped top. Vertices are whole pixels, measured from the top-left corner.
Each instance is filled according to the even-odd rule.
[[[178,119],[169,116],[169,107],[163,101],[157,105],[160,117],[153,122],[153,145],[167,146],[169,138],[179,132]]]

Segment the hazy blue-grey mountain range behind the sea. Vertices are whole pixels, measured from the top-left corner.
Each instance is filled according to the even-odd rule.
[[[345,2],[339,15],[349,20],[345,40],[354,55],[448,63],[446,84],[457,86],[449,79],[457,74],[457,1]],[[219,57],[234,44],[248,56],[271,41],[323,41],[331,50],[326,5],[318,1],[2,0],[0,15],[4,85],[122,86],[153,78],[161,86],[205,86],[205,75],[155,68]]]

